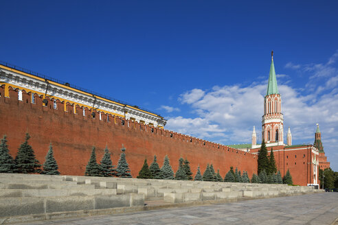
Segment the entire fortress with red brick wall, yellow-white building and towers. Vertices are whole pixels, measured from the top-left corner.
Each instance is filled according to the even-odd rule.
[[[290,128],[287,144],[284,144],[282,102],[271,59],[262,137],[269,153],[273,150],[282,176],[289,169],[293,184],[317,185],[319,167],[330,167],[319,126],[314,145],[292,145]],[[179,158],[187,158],[193,176],[198,166],[203,173],[207,164],[212,164],[215,171],[219,169],[223,178],[231,166],[247,171],[249,177],[257,174],[260,145],[256,143],[255,128],[252,143],[245,147],[196,139],[165,130],[166,119],[154,112],[1,63],[0,121],[0,136],[7,135],[12,156],[16,156],[28,132],[30,145],[41,164],[45,162],[49,143],[52,143],[54,157],[63,175],[83,176],[93,146],[98,162],[107,146],[116,166],[122,144],[126,147],[126,160],[133,177],[138,175],[144,159],[150,165],[154,155],[160,167],[164,156],[168,155],[174,172],[178,169]]]

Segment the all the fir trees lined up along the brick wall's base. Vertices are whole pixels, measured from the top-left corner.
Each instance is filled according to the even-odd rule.
[[[54,158],[52,144],[49,145],[49,150],[47,152],[47,156],[45,157],[45,163],[43,163],[43,168],[41,169],[41,164],[35,158],[34,150],[28,143],[29,139],[30,135],[26,134],[25,141],[20,145],[18,154],[16,154],[15,158],[12,158],[9,154],[6,137],[4,136],[3,139],[1,139],[0,173],[59,175],[60,172],[58,171],[58,165]],[[93,147],[84,175],[131,178],[131,169],[129,169],[128,163],[126,162],[126,149],[123,145],[121,151],[122,154],[120,155],[120,159],[115,169],[115,166],[111,161],[111,153],[109,152],[109,149],[107,147],[105,148],[104,156],[99,164],[96,161],[95,147]],[[237,168],[234,171],[233,167],[230,167],[230,170],[225,175],[225,178],[222,178],[219,174],[219,169],[216,173],[212,164],[207,165],[203,175],[201,174],[200,167],[198,167],[196,175],[193,178],[192,171],[190,169],[190,162],[186,158],[185,160],[183,158],[179,158],[179,168],[176,173],[174,173],[168,156],[165,156],[164,164],[161,168],[157,163],[156,156],[154,156],[153,163],[151,163],[150,167],[145,159],[144,165],[139,171],[137,178],[293,184],[289,169],[286,171],[286,174],[282,179],[280,171],[277,171],[277,167],[275,165],[273,150],[271,150],[270,155],[268,155],[264,141],[262,141],[262,146],[258,152],[258,175],[253,174],[251,179],[249,179],[247,171],[243,171],[243,174],[241,175],[241,172],[238,171]]]

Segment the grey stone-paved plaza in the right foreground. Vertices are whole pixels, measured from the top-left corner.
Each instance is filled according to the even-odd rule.
[[[29,224],[335,224],[338,193],[76,217]]]

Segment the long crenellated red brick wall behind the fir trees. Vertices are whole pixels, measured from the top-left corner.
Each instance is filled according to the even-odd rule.
[[[86,117],[83,117],[82,109],[77,107],[78,114],[74,114],[73,106],[69,103],[67,112],[64,111],[63,102],[58,102],[54,110],[51,100],[47,107],[42,106],[42,98],[37,95],[35,104],[31,104],[31,93],[25,91],[23,101],[18,101],[17,92],[12,88],[9,98],[3,97],[2,87],[0,93],[0,135],[7,135],[10,154],[16,155],[25,132],[29,132],[30,144],[41,164],[45,161],[49,143],[52,143],[61,174],[83,175],[93,145],[97,149],[98,161],[108,145],[113,165],[117,165],[122,143],[126,147],[126,160],[133,177],[137,176],[144,158],[150,165],[153,156],[157,155],[161,167],[166,154],[174,171],[177,171],[179,157],[183,157],[190,161],[194,174],[198,165],[203,173],[207,163],[212,163],[216,171],[220,169],[223,178],[230,166],[248,171],[249,176],[257,172],[257,156],[254,154],[168,130],[153,128],[154,132],[151,132],[151,127],[133,121],[126,121],[122,126],[120,117],[109,116],[110,121],[107,122],[106,115],[102,114],[100,121],[98,114],[95,119],[90,117],[88,108],[85,109]]]

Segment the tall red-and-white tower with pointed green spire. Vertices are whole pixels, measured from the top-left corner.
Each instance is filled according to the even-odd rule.
[[[267,95],[264,97],[264,115],[262,117],[262,138],[267,146],[284,145],[283,140],[283,114],[282,99],[278,92],[273,64],[273,51],[271,51],[271,66]]]

